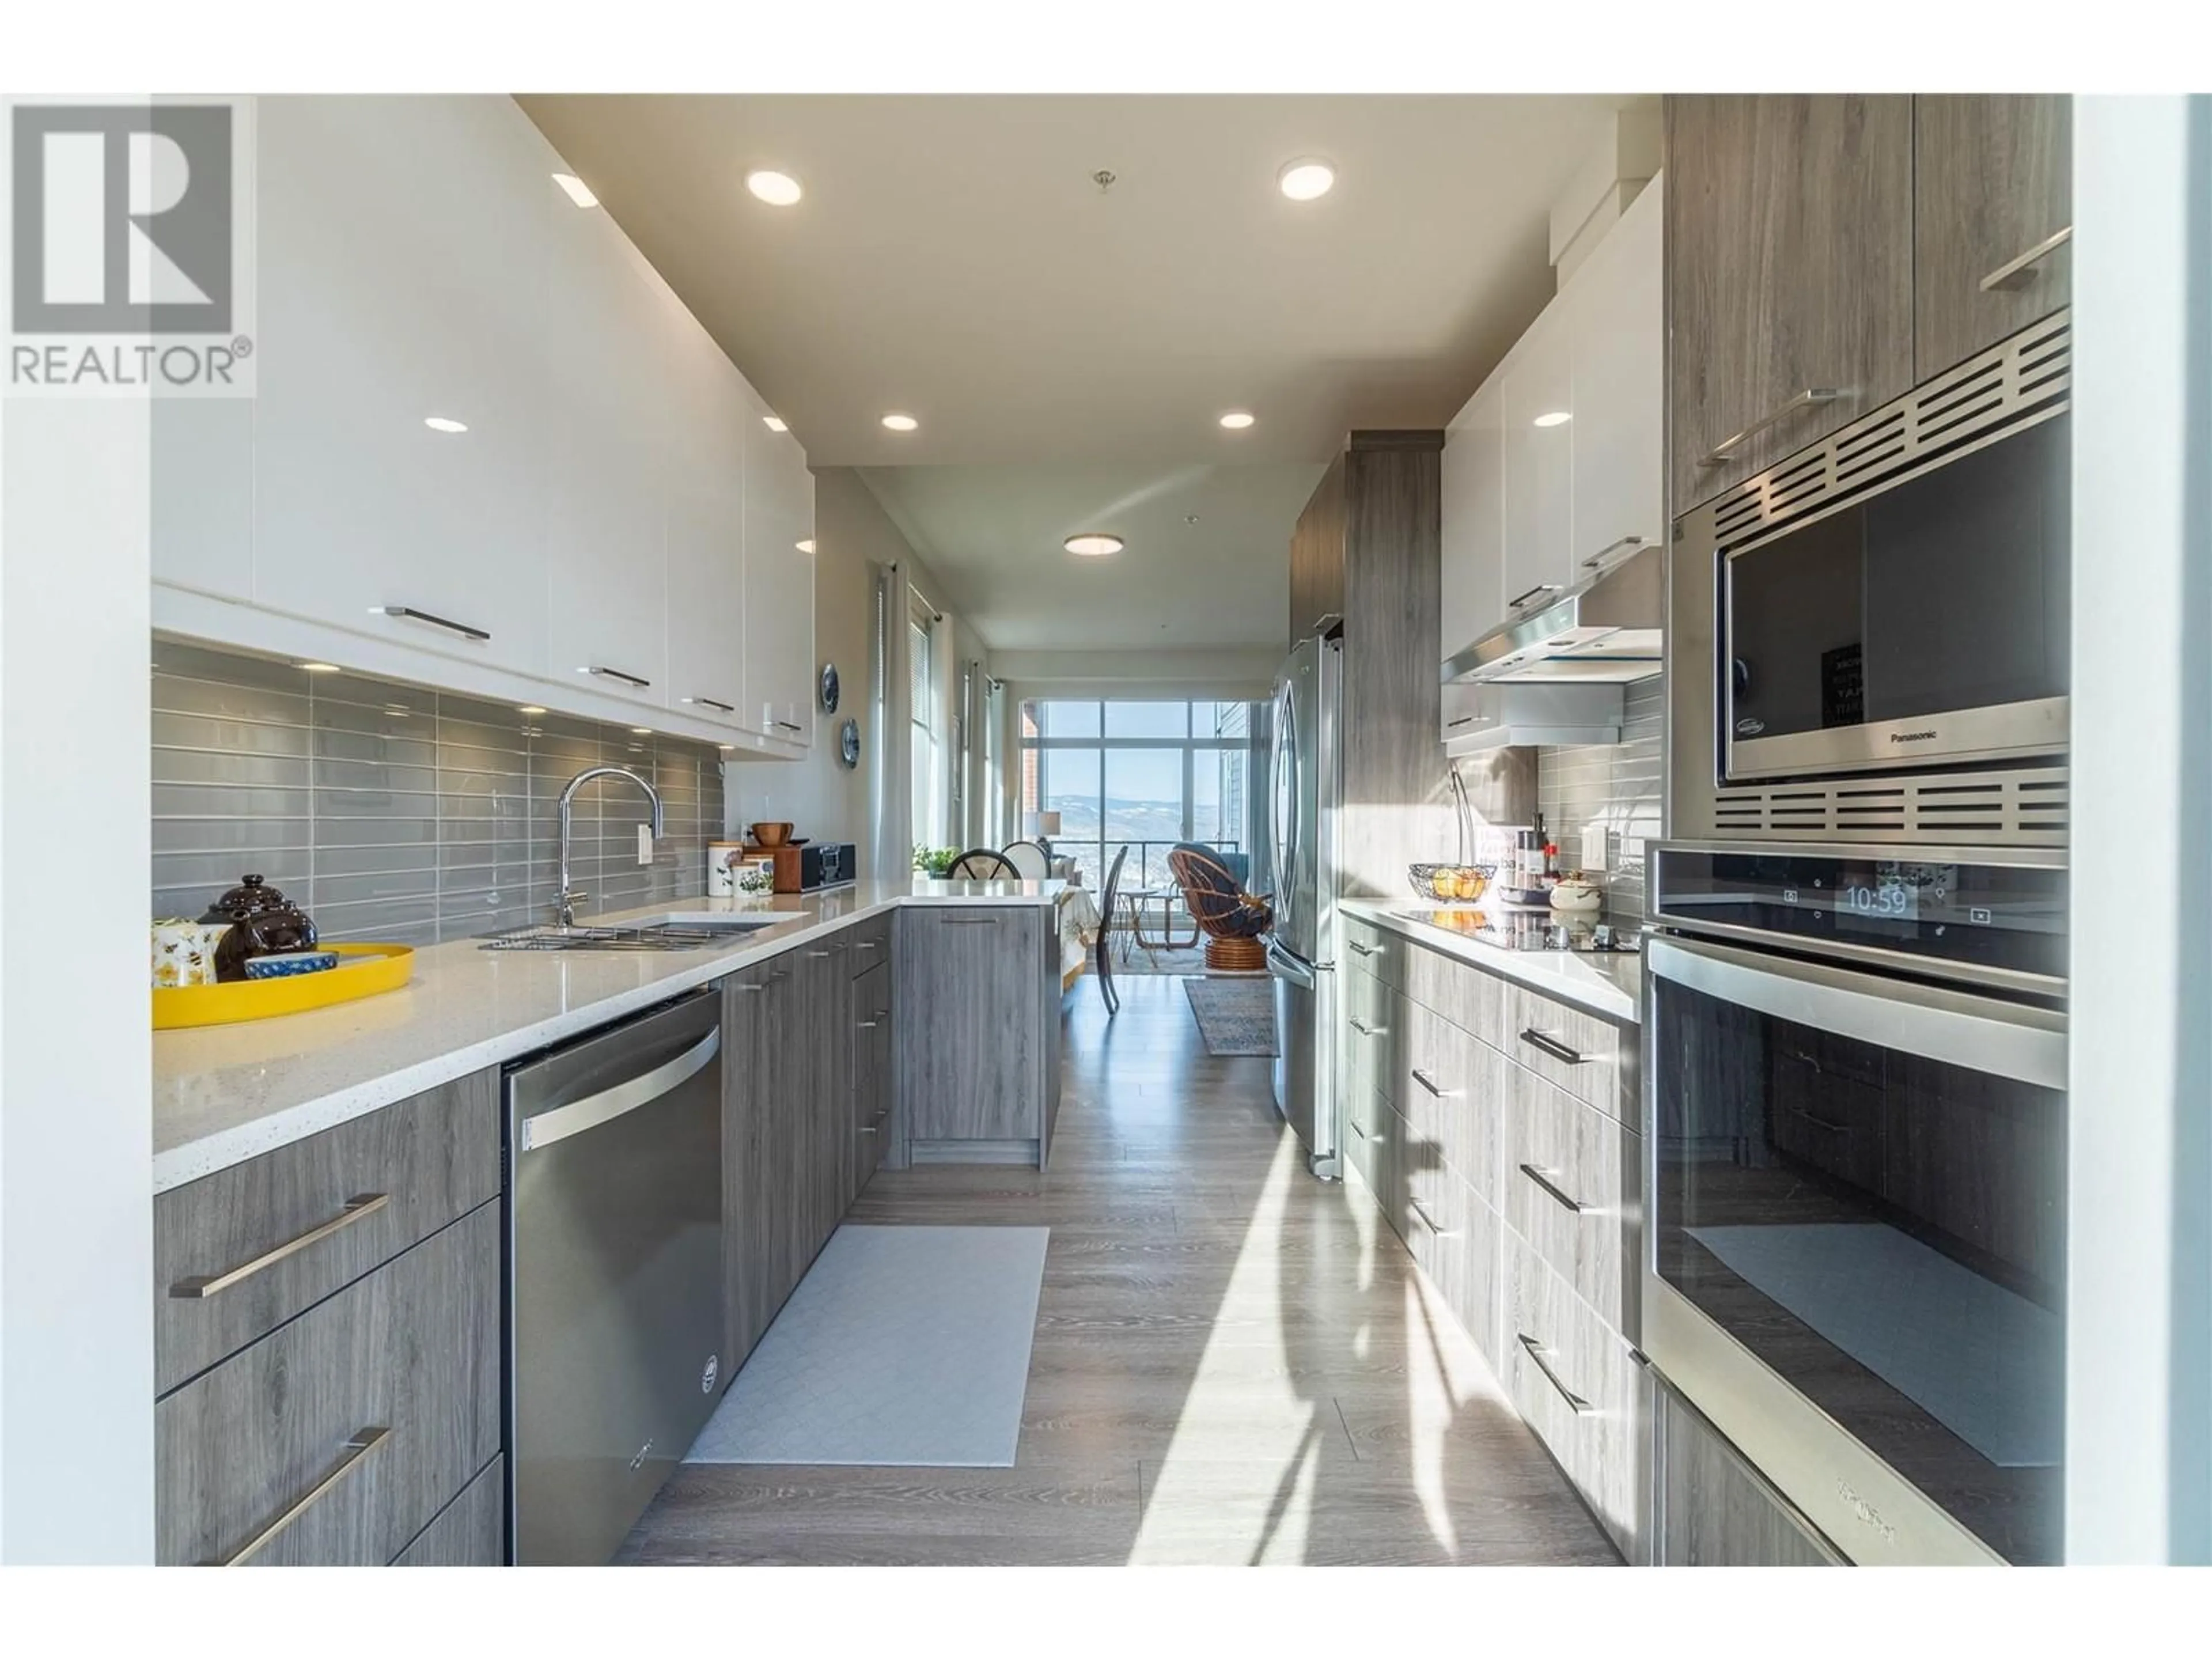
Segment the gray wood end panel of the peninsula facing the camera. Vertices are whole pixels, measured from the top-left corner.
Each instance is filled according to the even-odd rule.
[[[898,914],[898,1113],[911,1161],[1044,1164],[1060,1106],[1060,964],[1044,909]]]

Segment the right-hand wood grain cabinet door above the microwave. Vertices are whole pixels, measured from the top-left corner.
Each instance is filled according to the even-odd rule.
[[[1913,378],[1942,374],[2066,305],[2073,248],[2051,239],[2070,226],[2073,97],[1916,97]]]

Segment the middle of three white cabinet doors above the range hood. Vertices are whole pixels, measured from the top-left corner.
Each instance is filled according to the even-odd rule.
[[[1575,319],[1544,307],[1504,365],[1506,613],[1544,606],[1575,568]]]

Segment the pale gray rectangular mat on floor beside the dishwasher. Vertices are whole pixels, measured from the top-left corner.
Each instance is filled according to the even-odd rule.
[[[838,1228],[684,1462],[1011,1469],[1051,1228]]]

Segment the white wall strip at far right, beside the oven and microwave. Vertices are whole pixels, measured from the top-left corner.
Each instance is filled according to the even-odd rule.
[[[2075,226],[2066,1559],[2212,1562],[2212,97],[2077,100]]]

